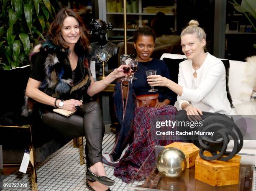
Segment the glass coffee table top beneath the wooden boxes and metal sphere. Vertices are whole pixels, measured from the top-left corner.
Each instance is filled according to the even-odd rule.
[[[210,186],[195,179],[195,166],[187,168],[178,178],[162,176],[156,168],[158,154],[164,146],[156,146],[128,184],[128,191],[251,191],[255,182],[255,155],[241,155],[240,180],[236,185]]]

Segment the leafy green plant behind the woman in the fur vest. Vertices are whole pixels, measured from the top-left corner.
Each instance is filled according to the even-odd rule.
[[[31,48],[48,31],[59,11],[57,0],[0,0],[0,67],[29,64]]]

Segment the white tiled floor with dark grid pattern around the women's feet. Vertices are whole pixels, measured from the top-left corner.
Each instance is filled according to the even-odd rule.
[[[115,141],[114,134],[106,134],[103,139],[103,152],[111,150]],[[73,148],[73,141],[49,156],[37,170],[38,191],[87,191],[85,184],[86,165],[79,163],[79,150]],[[108,176],[112,176],[115,185],[112,191],[126,190],[126,183],[113,176],[113,167],[105,167]],[[31,190],[30,175],[15,171],[3,180],[3,183],[27,183],[28,187],[5,187],[3,191]]]

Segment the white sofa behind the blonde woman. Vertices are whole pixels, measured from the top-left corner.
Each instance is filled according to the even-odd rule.
[[[180,54],[170,54],[164,53],[161,56],[161,60],[163,58],[171,58],[171,59],[184,59],[187,58],[184,55]],[[230,69],[229,69],[229,81],[228,86],[230,90],[230,94],[233,100],[234,110],[237,115],[254,115],[253,124],[251,124],[250,128],[253,128],[254,135],[251,136],[254,139],[256,138],[256,102],[250,102],[250,95],[253,89],[253,83],[248,79],[248,68],[247,62],[242,61],[233,61],[230,60]],[[254,63],[256,64],[256,63]],[[250,68],[251,69],[251,68]],[[254,68],[255,69],[255,68]],[[246,106],[247,105],[247,106]],[[174,105],[179,110],[179,106],[176,103]],[[252,117],[252,116],[250,116]],[[251,135],[251,133],[250,133]],[[245,138],[246,139],[246,138]],[[228,150],[232,149],[232,141],[228,144]],[[248,153],[256,155],[256,140],[244,140],[243,148],[240,153]],[[256,159],[255,159],[256,165]]]

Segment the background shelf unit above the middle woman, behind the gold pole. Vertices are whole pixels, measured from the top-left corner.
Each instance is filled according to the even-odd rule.
[[[106,23],[111,22],[114,24],[114,28],[112,31],[108,31],[107,38],[114,40],[118,39],[118,36],[123,38],[123,0],[114,0],[114,2],[120,2],[122,5],[122,11],[119,12],[116,10],[116,12],[109,11],[108,5],[110,1],[113,3],[113,0],[99,0],[99,18],[104,20]],[[129,1],[128,1],[129,2]],[[146,2],[146,0],[130,0],[130,3],[136,2],[135,6],[136,8],[133,8],[131,10],[137,10],[136,13],[127,13],[126,12],[126,20],[127,20],[127,36],[132,36],[132,32],[136,31],[138,27],[141,27],[143,25],[150,25],[151,20],[154,18],[156,13],[143,13],[143,8],[146,8],[148,6],[151,6],[150,3]],[[146,2],[146,4],[145,4]],[[113,5],[113,4],[112,4]],[[172,12],[165,13],[166,16],[168,16],[169,21],[173,23],[172,29],[175,31],[177,29],[177,19],[176,19],[176,1],[175,0],[169,0],[168,4],[163,5],[161,2],[159,4],[154,3],[152,5],[153,7],[156,7],[158,9],[161,9],[161,6],[172,6],[173,10]],[[128,6],[126,5],[126,8]],[[133,11],[131,11],[133,12]]]

